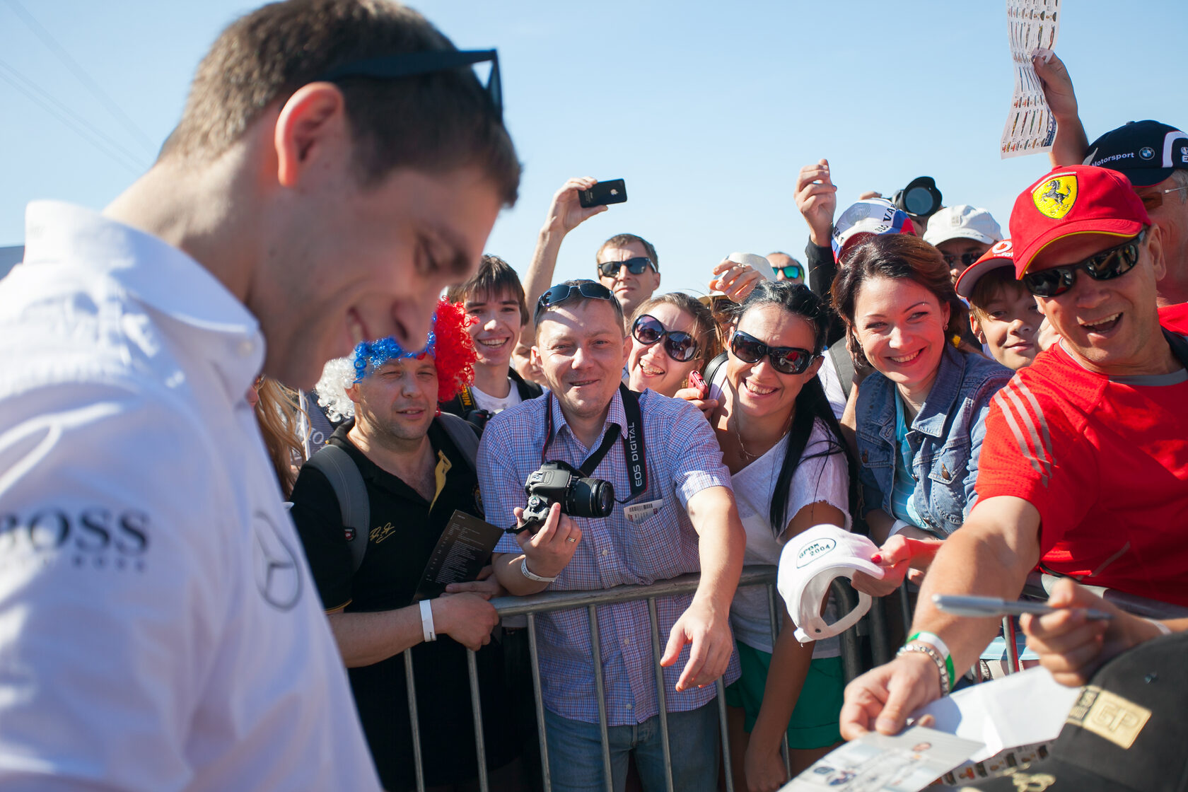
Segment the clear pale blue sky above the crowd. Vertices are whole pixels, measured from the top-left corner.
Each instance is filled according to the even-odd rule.
[[[19,1],[129,123],[0,0],[0,245],[23,242],[30,199],[102,208],[116,196],[176,123],[210,42],[255,5]],[[929,175],[946,203],[986,207],[1004,227],[1015,196],[1047,170],[1042,156],[999,159],[1012,89],[1000,0],[412,5],[459,46],[499,49],[524,180],[488,249],[520,272],[569,176],[625,178],[631,199],[570,234],[557,279],[589,277],[598,245],[632,232],[656,245],[664,289],[703,290],[732,251],[800,256],[807,227],[792,185],[820,157],[842,208]],[[1062,5],[1056,49],[1091,139],[1127,120],[1188,123],[1183,0]],[[13,70],[138,165],[18,91]]]

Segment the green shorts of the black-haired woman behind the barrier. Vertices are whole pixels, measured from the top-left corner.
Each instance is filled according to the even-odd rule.
[[[742,708],[746,712],[744,728],[750,734],[763,704],[771,654],[738,641],[734,645],[739,650],[742,676],[726,688],[726,704]],[[845,689],[841,658],[821,658],[809,664],[801,697],[788,722],[789,748],[824,748],[841,742],[838,720]]]

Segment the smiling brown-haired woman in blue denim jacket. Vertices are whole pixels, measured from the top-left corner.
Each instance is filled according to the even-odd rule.
[[[886,576],[854,583],[884,595],[909,568],[927,569],[973,508],[990,399],[1015,372],[954,346],[966,306],[941,254],[910,234],[859,242],[833,304],[851,353],[874,368],[859,386],[854,430],[864,515]]]

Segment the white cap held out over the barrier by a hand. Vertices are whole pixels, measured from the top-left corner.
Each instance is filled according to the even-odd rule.
[[[821,616],[835,578],[852,579],[858,571],[883,578],[883,568],[871,560],[878,551],[866,537],[835,525],[817,525],[788,540],[779,553],[776,585],[796,623],[796,640],[808,644],[843,633],[871,609],[871,595],[859,591],[858,604],[838,621],[827,625]]]

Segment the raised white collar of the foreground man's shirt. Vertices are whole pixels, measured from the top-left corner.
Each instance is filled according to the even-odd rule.
[[[264,365],[255,317],[198,261],[145,232],[61,201],[25,214],[23,267],[76,266],[119,283],[141,304],[196,332],[196,349],[219,372],[233,401]],[[189,335],[189,334],[188,334]]]

